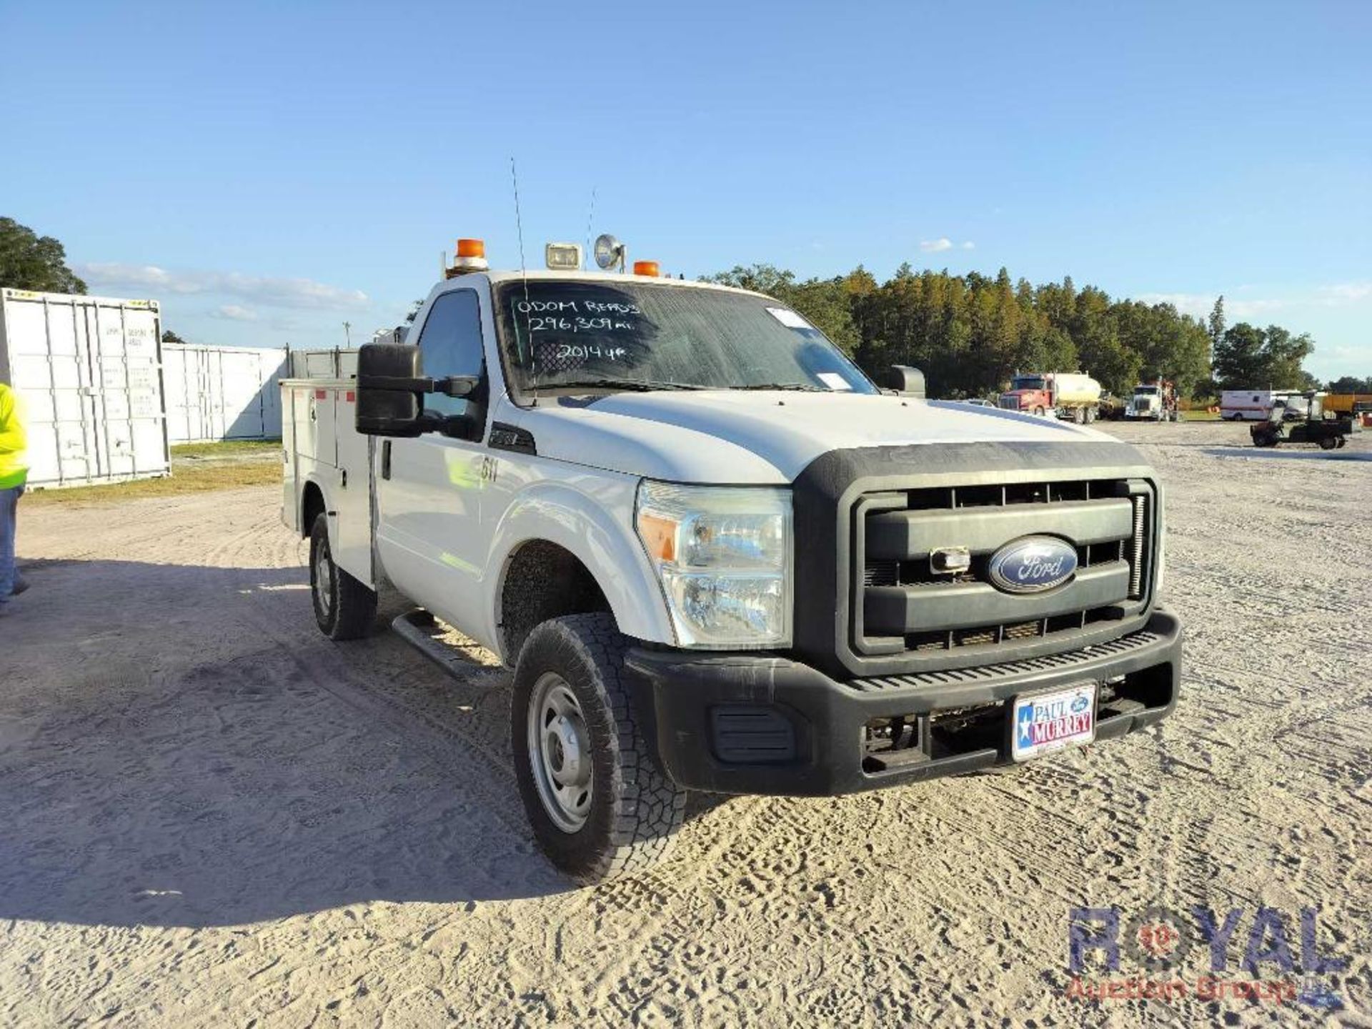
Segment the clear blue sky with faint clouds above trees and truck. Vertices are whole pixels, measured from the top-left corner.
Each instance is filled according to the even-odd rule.
[[[1002,265],[1372,375],[1372,4],[0,5],[0,214],[229,344],[394,325],[439,251]]]

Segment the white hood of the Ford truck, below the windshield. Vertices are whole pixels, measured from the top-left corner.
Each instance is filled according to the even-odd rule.
[[[545,398],[520,412],[538,453],[683,483],[785,484],[830,450],[1114,442],[1062,421],[908,397],[700,390]]]

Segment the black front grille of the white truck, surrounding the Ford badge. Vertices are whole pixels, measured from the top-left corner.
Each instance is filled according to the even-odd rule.
[[[1142,479],[1065,479],[864,494],[855,514],[851,645],[864,656],[937,659],[1007,645],[1073,646],[1146,605],[1154,487]],[[1026,535],[1077,550],[1077,571],[1043,593],[1008,594],[991,557]],[[936,550],[966,550],[967,567],[936,571]]]

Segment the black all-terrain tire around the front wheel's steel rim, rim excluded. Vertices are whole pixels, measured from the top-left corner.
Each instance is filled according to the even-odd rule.
[[[608,613],[569,615],[530,632],[514,665],[510,744],[524,809],[543,852],[584,882],[632,875],[663,860],[686,812],[686,790],[659,767],[648,746],[624,671],[626,639]],[[584,822],[561,827],[541,796],[542,761],[531,726],[541,682],[558,676],[575,694],[591,759]],[[547,770],[543,789],[547,789]]]

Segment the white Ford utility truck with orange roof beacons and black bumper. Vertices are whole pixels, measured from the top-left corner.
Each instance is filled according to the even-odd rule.
[[[513,668],[519,788],[575,878],[660,859],[687,790],[899,786],[1172,711],[1135,449],[878,388],[759,294],[472,251],[355,380],[283,383],[284,520],[331,638],[394,589],[406,638]]]

